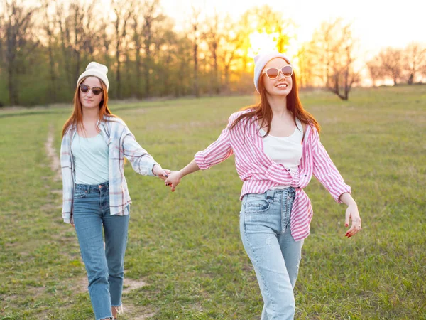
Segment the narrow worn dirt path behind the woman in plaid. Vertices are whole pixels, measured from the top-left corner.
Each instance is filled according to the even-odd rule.
[[[53,125],[49,126],[49,132],[48,132],[48,138],[45,142],[45,152],[49,159],[49,165],[50,169],[53,171],[54,181],[61,181],[62,180],[62,174],[60,169],[60,159],[58,156],[58,152],[55,150],[54,146],[54,132],[55,128]],[[53,193],[62,193],[60,190],[52,190]],[[51,205],[49,205],[51,206]],[[80,258],[81,260],[81,258]],[[124,288],[123,288],[123,306],[124,306],[124,319],[129,320],[145,320],[150,318],[151,316],[154,316],[155,313],[151,309],[145,308],[143,306],[134,306],[133,304],[129,304],[126,302],[126,294],[129,294],[133,290],[139,289],[141,287],[146,286],[146,282],[143,282],[142,280],[133,280],[133,279],[127,279],[124,278]],[[78,280],[77,291],[79,292],[87,292],[87,277],[84,276],[81,279]],[[87,299],[89,299],[88,293],[87,293]]]

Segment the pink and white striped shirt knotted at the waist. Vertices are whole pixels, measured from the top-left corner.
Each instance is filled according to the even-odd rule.
[[[310,233],[313,212],[310,198],[303,188],[310,182],[312,175],[327,188],[338,203],[342,203],[339,200],[342,193],[350,193],[351,187],[344,183],[321,144],[320,134],[315,127],[306,127],[299,169],[290,171],[282,164],[274,162],[263,151],[263,141],[255,117],[241,120],[234,129],[229,129],[234,120],[244,112],[246,111],[231,114],[222,134],[207,149],[195,154],[195,162],[200,169],[205,170],[234,154],[236,171],[243,181],[240,200],[246,193],[264,193],[279,185],[293,186],[296,196],[291,211],[290,230],[295,241],[305,239]]]

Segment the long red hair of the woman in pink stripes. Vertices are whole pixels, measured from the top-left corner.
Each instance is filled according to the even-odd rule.
[[[241,110],[251,110],[244,114],[241,114],[239,117],[235,119],[235,121],[231,124],[231,128],[233,129],[236,124],[238,124],[242,119],[251,119],[252,117],[256,117],[258,120],[261,120],[263,125],[267,125],[268,130],[266,131],[266,136],[271,132],[271,121],[272,121],[272,109],[268,103],[268,97],[266,96],[265,85],[263,85],[263,77],[265,75],[261,75],[258,82],[259,92],[261,94],[261,102],[256,105],[250,105],[248,107],[244,107]],[[299,99],[299,93],[297,90],[297,82],[295,73],[291,76],[291,80],[293,82],[293,87],[290,93],[287,95],[285,99],[287,99],[287,109],[293,114],[293,119],[296,124],[296,118],[300,120],[300,122],[315,127],[318,132],[320,132],[320,124],[318,124],[317,120],[315,120],[314,116],[307,112],[303,106],[302,102]],[[246,123],[246,125],[249,122]]]

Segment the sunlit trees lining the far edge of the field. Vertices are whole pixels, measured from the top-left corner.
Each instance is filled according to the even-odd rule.
[[[113,99],[251,93],[251,35],[273,35],[285,53],[295,27],[270,6],[239,17],[192,7],[176,28],[160,0],[111,0],[108,7],[97,0],[1,1],[0,106],[70,102],[92,60],[108,66]],[[342,19],[322,23],[294,57],[300,87],[325,87],[347,100],[360,79],[356,44]],[[420,44],[398,51],[400,60],[391,50],[397,49],[366,64],[374,83],[391,78],[411,84],[425,75]]]

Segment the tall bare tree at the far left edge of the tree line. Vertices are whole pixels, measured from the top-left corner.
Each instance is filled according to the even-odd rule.
[[[23,73],[23,65],[28,55],[38,47],[34,36],[34,14],[36,7],[29,7],[18,0],[4,0],[4,11],[0,29],[4,31],[4,65],[7,70],[9,103],[19,105],[18,75]]]

